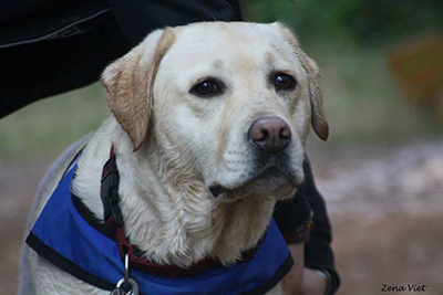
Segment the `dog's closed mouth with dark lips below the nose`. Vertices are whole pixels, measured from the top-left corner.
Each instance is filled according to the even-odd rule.
[[[260,192],[272,191],[278,186],[296,188],[301,182],[296,171],[286,164],[265,165],[251,171],[247,179],[236,183],[234,187],[226,187],[220,183],[209,186],[210,193],[217,198],[224,193],[236,191],[247,192],[259,189]]]

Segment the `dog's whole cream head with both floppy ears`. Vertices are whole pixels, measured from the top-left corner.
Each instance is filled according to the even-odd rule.
[[[303,179],[309,124],[328,137],[319,70],[280,23],[155,31],[102,83],[134,150],[167,141],[226,200],[290,197]]]

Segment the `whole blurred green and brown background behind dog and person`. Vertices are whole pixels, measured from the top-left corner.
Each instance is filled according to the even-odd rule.
[[[245,20],[290,25],[321,69],[330,138],[312,135],[307,151],[333,226],[339,294],[383,284],[443,294],[443,1],[243,7]],[[0,120],[0,294],[17,291],[40,178],[109,115],[99,84],[62,96]]]

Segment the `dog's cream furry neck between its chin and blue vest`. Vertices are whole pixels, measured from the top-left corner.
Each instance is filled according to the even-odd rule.
[[[158,148],[151,138],[152,144],[133,152],[127,135],[116,124],[104,124],[110,125],[114,128],[102,127],[84,149],[73,190],[102,219],[100,177],[109,157],[109,138],[114,138],[125,232],[146,259],[188,266],[212,256],[228,265],[258,243],[275,200],[241,196],[220,201],[167,139]]]

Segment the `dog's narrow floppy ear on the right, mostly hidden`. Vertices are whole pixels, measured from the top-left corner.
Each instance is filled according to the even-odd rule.
[[[320,70],[316,62],[306,55],[300,49],[296,36],[284,24],[277,22],[276,25],[281,32],[281,35],[293,48],[295,53],[300,60],[301,66],[308,76],[309,98],[311,103],[311,124],[312,128],[322,140],[327,140],[329,136],[329,126],[323,112],[323,96],[320,88]]]

